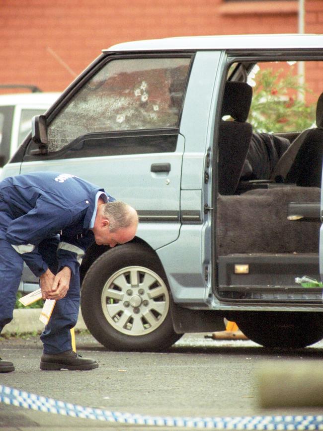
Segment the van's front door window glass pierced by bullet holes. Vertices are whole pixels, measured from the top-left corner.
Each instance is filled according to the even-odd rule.
[[[96,132],[178,127],[190,57],[107,62],[48,127],[48,151]]]

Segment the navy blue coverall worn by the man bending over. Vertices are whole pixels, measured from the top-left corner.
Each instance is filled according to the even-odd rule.
[[[72,277],[67,295],[56,302],[41,340],[44,353],[72,349],[71,332],[80,307],[80,264],[93,243],[97,201],[115,199],[77,176],[33,172],[0,182],[0,332],[12,320],[23,261],[39,277],[64,266]]]

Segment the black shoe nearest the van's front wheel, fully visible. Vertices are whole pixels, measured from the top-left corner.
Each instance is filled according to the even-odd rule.
[[[73,350],[63,351],[62,353],[46,354],[43,353],[40,360],[40,369],[55,371],[61,369],[68,370],[92,370],[99,364],[94,359],[86,359]]]

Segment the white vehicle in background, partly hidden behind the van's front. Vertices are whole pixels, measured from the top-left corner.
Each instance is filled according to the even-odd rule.
[[[0,170],[30,132],[32,117],[46,112],[59,95],[41,91],[0,95]]]

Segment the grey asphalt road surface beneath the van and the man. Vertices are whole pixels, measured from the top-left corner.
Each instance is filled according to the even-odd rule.
[[[261,409],[255,371],[264,361],[323,357],[323,342],[298,350],[267,350],[250,341],[214,341],[188,334],[161,353],[111,352],[90,335],[77,334],[78,352],[93,357],[92,371],[40,371],[38,337],[0,338],[1,357],[16,371],[0,374],[2,385],[87,407],[157,416],[253,416],[319,414],[319,408]],[[313,361],[313,362],[311,362]],[[275,362],[279,363],[279,362]],[[152,430],[64,417],[0,404],[0,428],[19,431]],[[155,428],[156,429],[156,428]],[[168,428],[162,428],[168,430]]]

